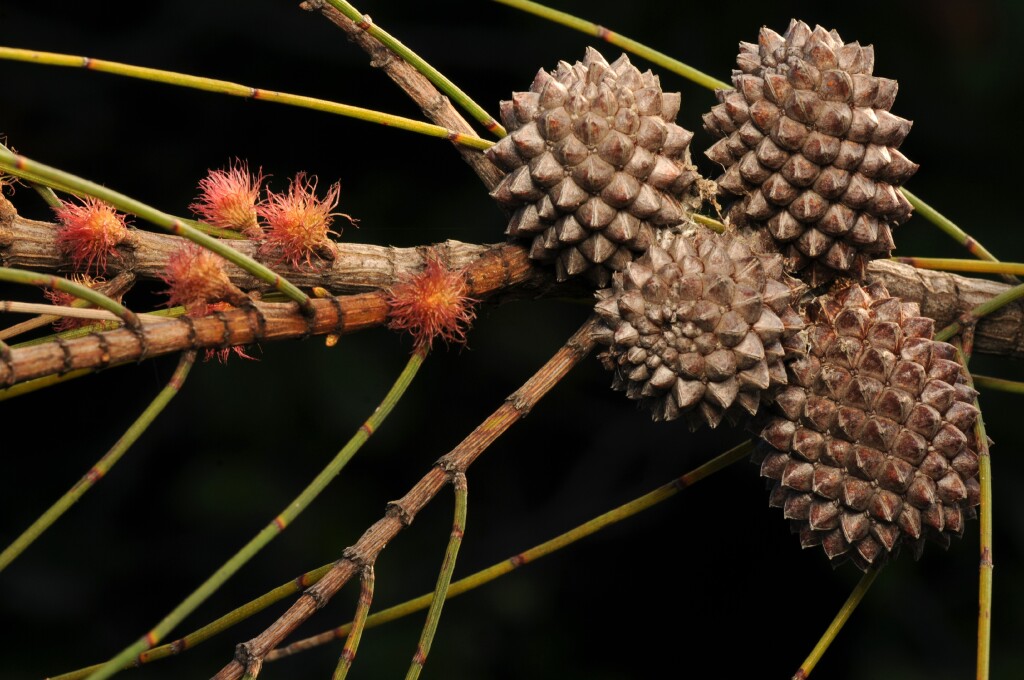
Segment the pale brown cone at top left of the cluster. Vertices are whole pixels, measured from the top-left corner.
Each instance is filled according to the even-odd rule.
[[[528,92],[501,102],[510,134],[487,150],[508,174],[492,193],[514,211],[506,233],[530,240],[559,281],[586,273],[599,288],[643,253],[653,229],[696,207],[692,132],[675,124],[678,92],[588,48],[583,61],[541,70]]]

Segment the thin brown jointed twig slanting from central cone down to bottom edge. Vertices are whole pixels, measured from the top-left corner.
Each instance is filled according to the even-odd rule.
[[[349,579],[359,573],[364,564],[373,564],[401,529],[409,526],[417,514],[451,481],[456,473],[466,469],[510,426],[529,412],[548,391],[594,348],[591,318],[568,339],[565,345],[486,420],[470,432],[459,445],[442,456],[401,499],[388,504],[384,516],[377,520],[355,545],[347,548],[316,585],[308,588],[295,603],[258,636],[239,645],[236,658],[214,676],[215,680],[237,680],[247,666],[262,661],[296,628],[334,597]]]

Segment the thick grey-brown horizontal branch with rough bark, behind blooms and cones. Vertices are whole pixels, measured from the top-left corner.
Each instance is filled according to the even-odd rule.
[[[34,271],[73,270],[70,258],[56,245],[57,225],[19,217],[0,197],[0,264]],[[182,239],[133,229],[130,243],[118,248],[118,257],[109,258],[106,274],[128,271],[142,279],[157,279],[167,259],[182,245]],[[446,241],[418,248],[391,248],[362,244],[337,244],[338,256],[317,268],[295,268],[276,261],[272,254],[260,254],[251,241],[231,241],[240,252],[262,260],[284,278],[302,288],[322,286],[335,294],[379,291],[393,286],[403,275],[420,270],[431,250],[450,268],[479,265],[481,258],[497,256],[510,263],[515,275],[485,293],[474,295],[506,299],[508,295],[537,296],[555,290],[552,277],[526,259],[523,248],[515,245],[477,245]],[[268,286],[232,264],[226,270],[231,283],[245,291],[265,291]],[[994,281],[971,279],[944,271],[915,269],[906,264],[876,260],[867,267],[869,281],[885,284],[892,295],[921,304],[922,312],[942,328],[957,321],[978,304],[1002,293],[1010,286]],[[586,295],[581,288],[560,288],[561,294]],[[497,298],[495,297],[497,296]],[[301,318],[297,323],[304,326]],[[379,323],[379,322],[378,322]],[[330,329],[321,331],[329,332]],[[293,336],[289,336],[293,337]],[[181,349],[181,347],[178,347]],[[172,350],[169,350],[172,351]],[[1024,304],[1015,302],[983,318],[977,326],[975,351],[1024,356]]]

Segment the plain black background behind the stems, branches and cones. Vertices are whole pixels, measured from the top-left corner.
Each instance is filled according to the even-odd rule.
[[[901,84],[912,119],[903,151],[921,163],[909,187],[998,256],[1021,260],[1019,133],[1024,8],[1016,2],[630,3],[559,7],[727,78],[736,43],[791,16],[873,43],[876,73]],[[103,11],[100,11],[102,7]],[[617,50],[488,2],[366,3],[386,30],[492,111],[538,68],[586,45]],[[0,1],[0,43],[172,69],[419,117],[342,34],[296,3],[14,3]],[[636,60],[643,65],[642,61]],[[646,66],[646,65],[643,65]],[[710,143],[710,92],[683,92],[679,122]],[[281,190],[304,170],[342,182],[340,209],[360,219],[346,241],[414,246],[500,241],[504,217],[444,141],[316,112],[80,70],[0,62],[0,133],[22,153],[184,213],[197,181],[248,159]],[[29,189],[27,216],[47,211]],[[899,254],[965,257],[921,218],[896,232]],[[155,288],[129,302],[152,304]],[[587,316],[565,301],[484,307],[463,350],[437,351],[390,420],[308,511],[176,633],[336,558],[555,351]],[[99,486],[0,573],[0,677],[39,677],[111,656],[150,630],[264,526],[370,414],[401,369],[408,339],[376,330],[268,344],[258,362],[197,366],[183,393]],[[977,356],[981,373],[1024,377]],[[148,362],[5,402],[0,543],[71,485],[164,384],[174,359]],[[565,379],[470,470],[468,533],[456,578],[536,545],[669,481],[742,440],[725,427],[691,435],[654,424],[593,358]],[[995,603],[992,671],[1021,677],[1024,650],[1024,465],[1019,397],[983,396],[993,451]],[[375,608],[432,589],[451,521],[442,494],[378,562]],[[896,561],[815,677],[964,678],[974,673],[978,523],[948,554]],[[497,583],[451,601],[427,678],[786,678],[859,573],[801,551],[745,463]],[[301,633],[351,614],[346,588]],[[185,656],[130,677],[212,675],[237,642],[284,605]],[[365,636],[353,677],[400,677],[423,614]],[[327,677],[340,645],[269,665],[265,677]],[[127,676],[126,676],[127,677]]]

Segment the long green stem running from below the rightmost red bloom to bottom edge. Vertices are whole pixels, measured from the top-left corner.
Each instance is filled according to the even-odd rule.
[[[276,538],[285,528],[295,520],[303,510],[308,507],[308,505],[315,499],[324,488],[334,479],[341,469],[351,460],[352,456],[362,447],[367,439],[377,430],[377,428],[384,422],[388,414],[404,394],[406,389],[412,382],[413,378],[416,376],[417,371],[419,371],[420,366],[423,365],[423,359],[426,357],[427,349],[419,348],[413,352],[410,356],[409,363],[402,370],[401,374],[395,380],[391,389],[388,391],[387,395],[381,401],[380,406],[374,411],[374,413],[367,419],[367,421],[359,427],[359,429],[352,435],[348,440],[348,443],[338,452],[338,455],[325,467],[319,474],[306,486],[301,494],[294,501],[288,504],[286,508],[279,514],[273,520],[267,524],[259,534],[257,534],[249,543],[245,545],[238,553],[234,554],[229,560],[227,560],[220,568],[218,568],[209,579],[207,579],[203,585],[201,585],[195,592],[193,592],[188,597],[186,597],[178,606],[174,608],[167,617],[163,619],[157,626],[151,630],[148,633],[139,638],[136,642],[132,643],[125,649],[123,649],[118,655],[116,655],[111,661],[106,662],[96,673],[89,676],[91,680],[104,680],[110,678],[115,673],[118,673],[124,667],[134,660],[140,652],[145,651],[155,647],[168,633],[170,633],[181,621],[187,617],[189,613],[196,610],[196,608],[202,604],[210,595],[212,595],[221,585],[223,585],[236,571],[238,571],[242,566],[248,562],[260,549],[262,549],[266,544],[270,543],[274,538]]]

